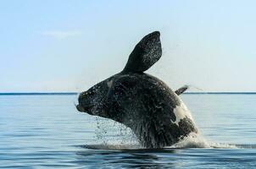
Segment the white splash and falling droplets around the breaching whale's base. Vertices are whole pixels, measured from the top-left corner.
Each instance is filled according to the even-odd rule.
[[[125,127],[121,123],[112,122],[102,117],[96,117],[96,143],[86,144],[88,149],[97,150],[139,150],[145,149],[136,139],[131,128]],[[203,148],[203,149],[239,149],[244,146],[236,144],[225,144],[210,142],[203,138],[203,135],[191,133],[181,139],[176,144],[173,144],[164,149],[187,149],[187,148]]]

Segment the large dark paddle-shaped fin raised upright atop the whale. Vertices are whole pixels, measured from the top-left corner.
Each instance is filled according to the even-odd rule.
[[[154,31],[142,38],[131,52],[123,72],[142,73],[162,56],[160,32]]]

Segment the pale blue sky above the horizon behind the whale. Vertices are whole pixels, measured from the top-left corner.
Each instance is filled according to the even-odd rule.
[[[147,70],[171,89],[256,91],[256,1],[23,0],[0,3],[0,92],[87,90],[119,73],[144,35]]]

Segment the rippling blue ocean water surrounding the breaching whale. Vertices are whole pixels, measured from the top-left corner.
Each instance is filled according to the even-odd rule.
[[[159,150],[77,112],[77,95],[0,95],[1,168],[256,168],[256,95],[181,95],[200,130]]]

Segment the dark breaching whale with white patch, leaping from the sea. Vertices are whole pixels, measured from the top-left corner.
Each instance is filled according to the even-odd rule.
[[[187,86],[173,91],[144,73],[161,55],[160,33],[154,31],[135,46],[119,74],[79,95],[77,110],[125,124],[145,148],[170,146],[198,133],[191,112],[178,96]]]

